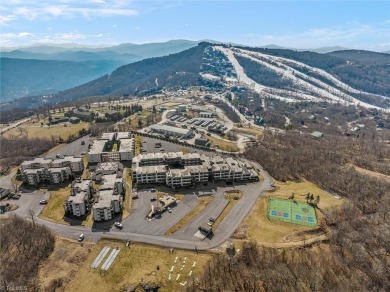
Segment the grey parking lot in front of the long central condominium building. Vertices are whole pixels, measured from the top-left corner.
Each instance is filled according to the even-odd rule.
[[[148,235],[163,236],[171,227],[175,226],[182,218],[184,218],[192,209],[199,203],[197,201],[197,193],[205,192],[212,194],[212,200],[204,209],[202,209],[188,224],[183,226],[172,237],[185,240],[196,240],[195,233],[198,227],[209,221],[209,218],[218,218],[222,213],[228,200],[224,198],[224,193],[228,190],[240,190],[243,197],[240,199],[241,204],[245,204],[245,200],[249,196],[256,196],[256,190],[259,188],[259,182],[243,182],[236,186],[226,185],[225,182],[211,183],[207,185],[199,185],[197,188],[181,188],[175,191],[165,186],[159,185],[145,185],[144,189],[137,191],[138,198],[133,199],[131,214],[123,220],[123,231],[132,233],[142,233]],[[162,191],[170,194],[183,194],[184,197],[177,203],[176,206],[171,207],[172,212],[164,212],[161,216],[157,216],[152,220],[146,217],[151,210],[151,206],[157,206],[157,201],[152,201],[156,197],[156,192],[152,189]],[[228,219],[233,220],[234,218]]]

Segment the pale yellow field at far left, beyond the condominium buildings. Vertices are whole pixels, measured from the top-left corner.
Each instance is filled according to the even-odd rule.
[[[88,123],[82,122],[79,124],[66,124],[64,127],[63,124],[51,126],[41,127],[39,123],[35,123],[34,125],[23,124],[21,127],[27,131],[28,138],[50,138],[53,137],[61,137],[62,139],[68,139],[70,135],[77,134],[81,129],[88,129]],[[11,129],[4,133],[4,137],[8,138],[11,135],[15,137],[23,136],[17,128]]]

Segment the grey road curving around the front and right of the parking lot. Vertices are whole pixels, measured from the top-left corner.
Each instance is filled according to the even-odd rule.
[[[180,249],[198,249],[206,250],[217,247],[225,242],[238,228],[244,218],[248,215],[256,200],[260,197],[263,191],[271,189],[273,179],[266,173],[259,164],[252,162],[255,168],[261,169],[261,174],[264,177],[264,181],[259,183],[259,189],[256,194],[246,194],[245,200],[240,200],[233,207],[233,209],[226,215],[224,220],[218,226],[212,239],[206,239],[200,241],[196,240],[183,240],[172,237],[153,236],[138,233],[122,232],[120,230],[101,230],[101,229],[89,229],[82,226],[69,226],[54,223],[44,220],[42,218],[36,218],[36,222],[45,225],[48,228],[56,231],[58,234],[71,239],[77,239],[77,237],[83,233],[85,240],[98,241],[101,238],[130,240],[136,242],[143,242],[148,244],[154,244],[164,247],[180,248]],[[131,224],[131,223],[130,223]]]

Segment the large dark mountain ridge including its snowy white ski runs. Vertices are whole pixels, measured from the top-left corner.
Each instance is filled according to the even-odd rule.
[[[137,95],[155,92],[162,87],[202,85],[222,88],[235,82],[288,102],[326,100],[365,107],[389,107],[390,67],[386,64],[390,63],[390,56],[354,50],[336,52],[338,56],[332,54],[203,42],[180,53],[121,66],[111,74],[63,90],[47,102],[70,102],[97,95]],[[349,61],[351,58],[354,61]],[[379,65],[377,60],[382,60]],[[268,84],[263,84],[264,78],[256,77],[264,74],[262,72],[273,76]],[[247,80],[246,83],[237,78],[238,73]],[[28,102],[28,99],[23,100]]]

